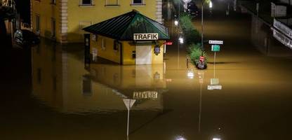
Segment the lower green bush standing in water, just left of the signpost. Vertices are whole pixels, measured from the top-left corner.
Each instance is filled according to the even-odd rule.
[[[205,57],[205,64],[207,62],[207,55],[206,52],[201,50],[201,43],[191,44],[189,45],[189,57],[194,65],[199,64],[199,57],[203,54]]]

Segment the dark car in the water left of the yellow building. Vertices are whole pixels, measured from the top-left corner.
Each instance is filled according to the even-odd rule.
[[[36,45],[39,44],[40,38],[34,32],[27,29],[18,29],[14,34],[14,41],[19,45]]]

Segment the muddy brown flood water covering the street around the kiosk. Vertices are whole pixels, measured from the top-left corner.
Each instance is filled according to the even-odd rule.
[[[206,39],[224,41],[215,64],[205,45],[206,70],[187,68],[178,43],[157,65],[87,65],[82,44],[46,40],[4,54],[0,139],[291,139],[291,49],[251,15],[205,21]]]

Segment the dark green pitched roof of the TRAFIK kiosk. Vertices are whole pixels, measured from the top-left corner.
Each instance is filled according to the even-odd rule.
[[[84,28],[84,31],[121,41],[133,41],[133,34],[141,33],[158,33],[159,40],[169,39],[167,27],[147,18],[137,10],[91,25]]]

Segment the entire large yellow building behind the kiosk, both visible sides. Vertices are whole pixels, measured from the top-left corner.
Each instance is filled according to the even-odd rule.
[[[84,27],[133,9],[162,23],[162,0],[31,0],[31,27],[60,43],[78,43]]]

